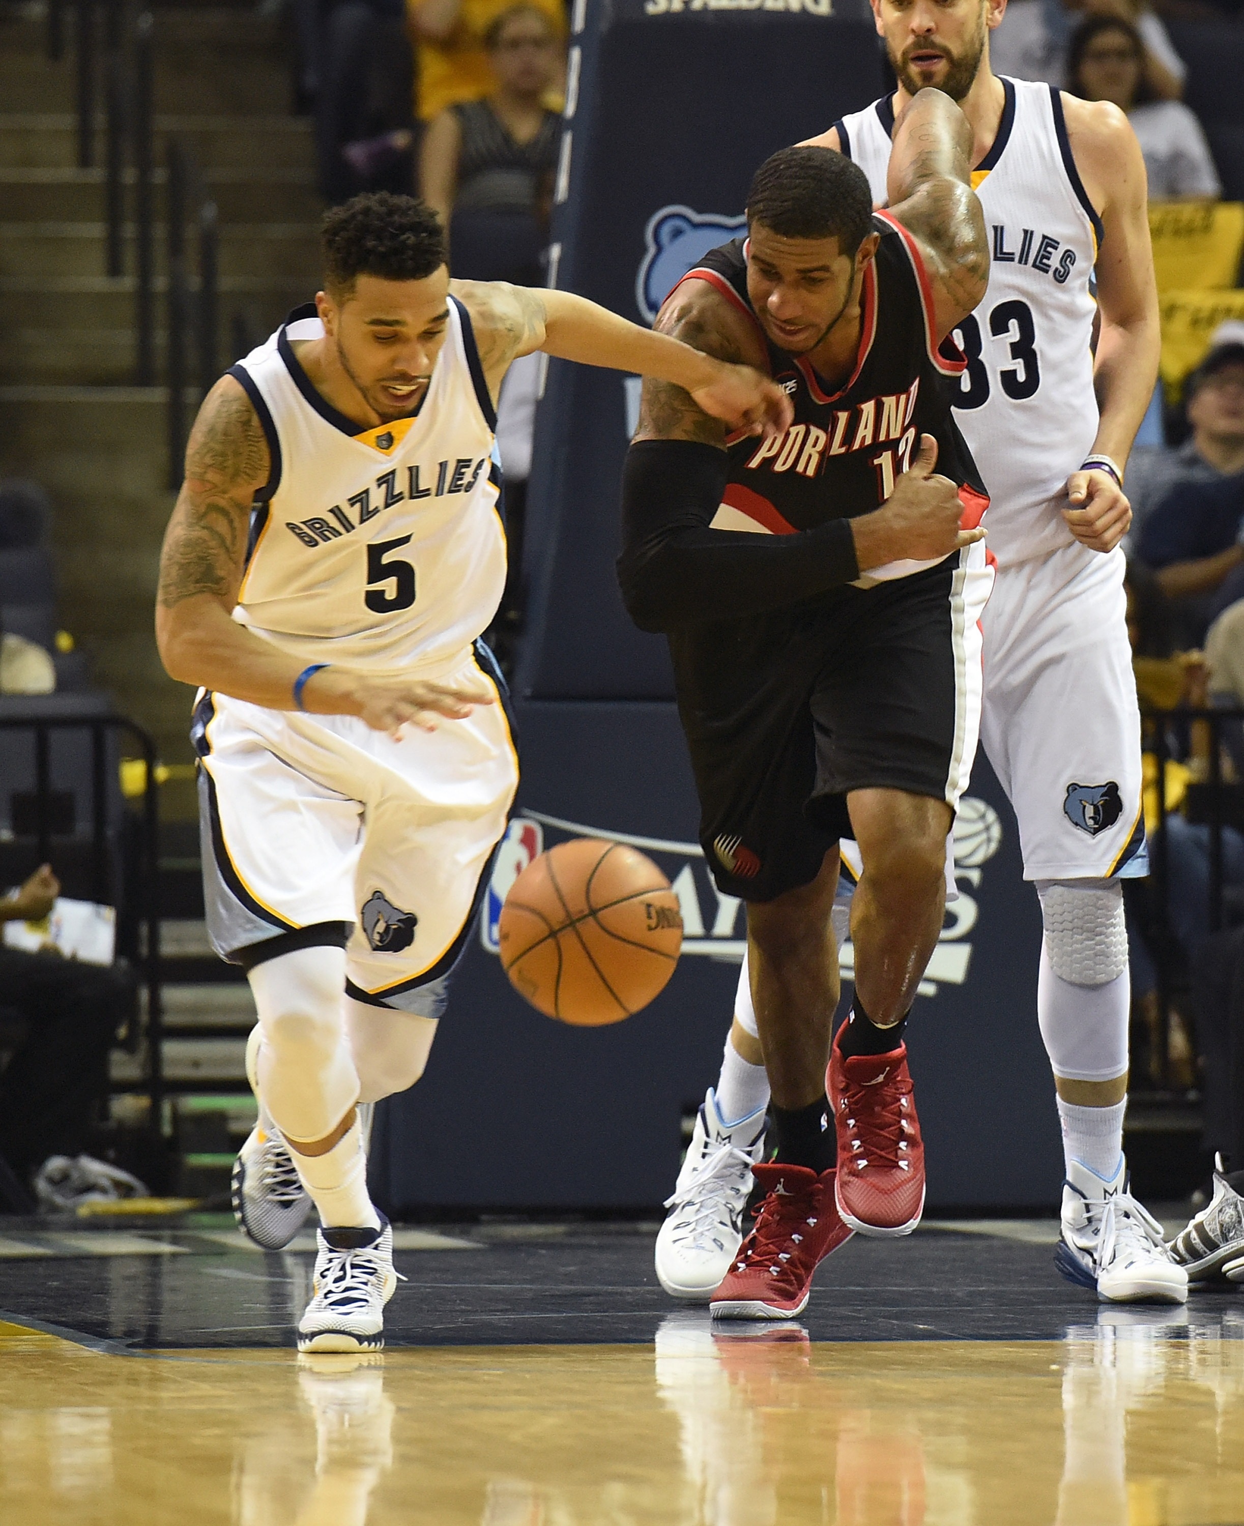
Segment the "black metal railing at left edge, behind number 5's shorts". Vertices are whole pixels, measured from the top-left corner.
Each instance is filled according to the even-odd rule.
[[[87,732],[90,736],[90,887],[92,896],[104,903],[116,903],[119,928],[133,925],[136,938],[131,949],[147,993],[147,1074],[130,1087],[111,1091],[136,1091],[148,1097],[148,1126],[162,1129],[163,1079],[163,1000],[160,986],[160,911],[159,911],[159,835],[160,798],[156,783],[156,743],[133,720],[119,716],[0,716],[0,731],[31,732],[34,748],[34,832],[29,833],[37,862],[55,862],[55,803],[52,789],[52,732]],[[125,736],[142,754],[147,766],[142,810],[125,812],[118,792],[108,787],[113,765],[108,739]],[[114,807],[114,809],[113,809]],[[136,852],[121,853],[121,870],[114,864],[114,847],[124,816],[136,829]],[[20,842],[20,839],[15,839]],[[61,839],[64,841],[64,839]]]

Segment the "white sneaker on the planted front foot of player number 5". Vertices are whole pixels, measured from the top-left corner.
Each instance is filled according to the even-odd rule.
[[[382,1213],[379,1230],[317,1230],[316,1245],[311,1302],[298,1322],[298,1349],[380,1351],[385,1305],[398,1283],[392,1225]]]

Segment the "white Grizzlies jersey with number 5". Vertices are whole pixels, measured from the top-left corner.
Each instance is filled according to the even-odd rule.
[[[272,455],[234,618],[307,662],[449,671],[505,584],[496,415],[470,317],[450,298],[421,406],[379,429],[339,414],[298,363],[293,343],[322,334],[298,308],[230,371]]]

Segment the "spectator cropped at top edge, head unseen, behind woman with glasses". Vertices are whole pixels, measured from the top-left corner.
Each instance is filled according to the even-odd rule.
[[[1143,44],[1145,85],[1151,99],[1180,99],[1186,66],[1162,18],[1142,0],[1010,0],[1001,26],[989,35],[994,72],[1015,79],[1044,79],[1070,90],[1067,44],[1084,15],[1130,21]]]

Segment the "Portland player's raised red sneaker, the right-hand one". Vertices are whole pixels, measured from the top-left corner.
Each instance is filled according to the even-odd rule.
[[[925,1146],[907,1045],[844,1058],[835,1038],[826,1091],[838,1131],[835,1199],[843,1221],[861,1235],[910,1235],[925,1210]]]

